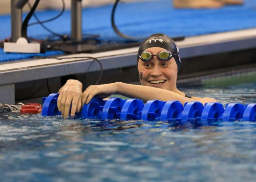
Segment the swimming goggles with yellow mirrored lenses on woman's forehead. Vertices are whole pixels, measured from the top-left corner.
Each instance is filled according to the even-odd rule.
[[[172,54],[169,51],[161,51],[159,54],[151,54],[150,52],[147,51],[143,51],[140,55],[138,55],[138,57],[142,60],[142,61],[150,61],[153,56],[157,56],[159,60],[161,61],[168,61],[169,59],[171,59],[173,56],[179,55],[180,53],[177,54]]]

